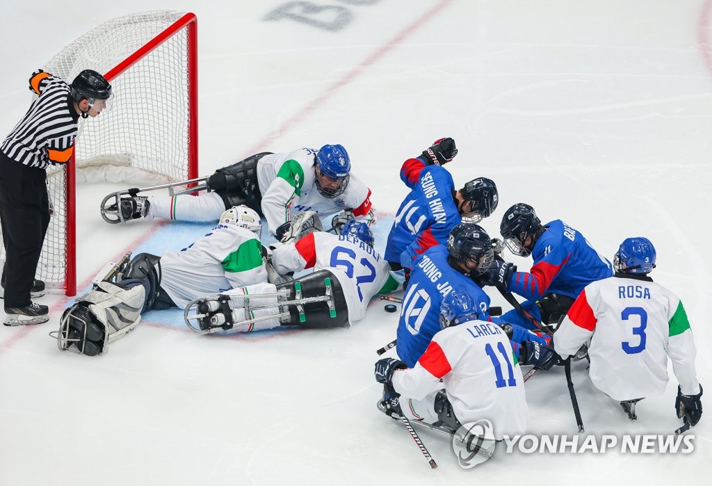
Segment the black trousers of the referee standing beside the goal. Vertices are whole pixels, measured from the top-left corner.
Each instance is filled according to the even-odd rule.
[[[0,223],[5,246],[5,307],[30,305],[30,289],[49,226],[47,171],[0,152]]]

